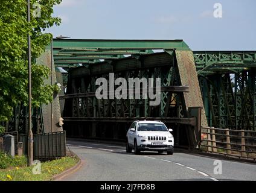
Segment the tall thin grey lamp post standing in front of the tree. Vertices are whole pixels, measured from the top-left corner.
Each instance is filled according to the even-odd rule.
[[[28,0],[27,21],[30,23],[30,0]],[[31,105],[31,37],[28,32],[28,166],[33,164],[33,133],[32,133],[32,105]]]

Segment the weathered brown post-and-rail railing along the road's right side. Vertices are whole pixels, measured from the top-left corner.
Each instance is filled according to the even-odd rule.
[[[201,150],[256,161],[256,131],[202,127]]]

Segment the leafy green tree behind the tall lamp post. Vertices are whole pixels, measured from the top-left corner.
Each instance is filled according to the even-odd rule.
[[[60,25],[60,18],[51,14],[53,6],[61,1],[31,0],[30,24],[27,22],[27,0],[0,1],[0,121],[10,119],[17,104],[28,105],[28,33],[31,34],[32,106],[39,107],[53,100],[53,87],[43,83],[50,69],[36,64],[36,58],[52,39],[51,34],[43,31]]]

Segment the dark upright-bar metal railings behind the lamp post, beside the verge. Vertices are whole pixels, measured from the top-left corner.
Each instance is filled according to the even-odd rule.
[[[28,136],[18,132],[1,133],[0,136],[14,136],[15,154],[18,154],[18,143],[23,144],[23,154],[27,154]],[[41,133],[33,135],[33,159],[51,160],[66,156],[66,132]]]

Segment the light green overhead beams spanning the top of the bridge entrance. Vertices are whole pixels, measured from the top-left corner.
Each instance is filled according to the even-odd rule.
[[[190,50],[183,40],[53,40],[56,67],[76,67],[82,63],[96,63],[97,59],[115,60],[124,55],[139,57],[153,53],[152,49]]]

